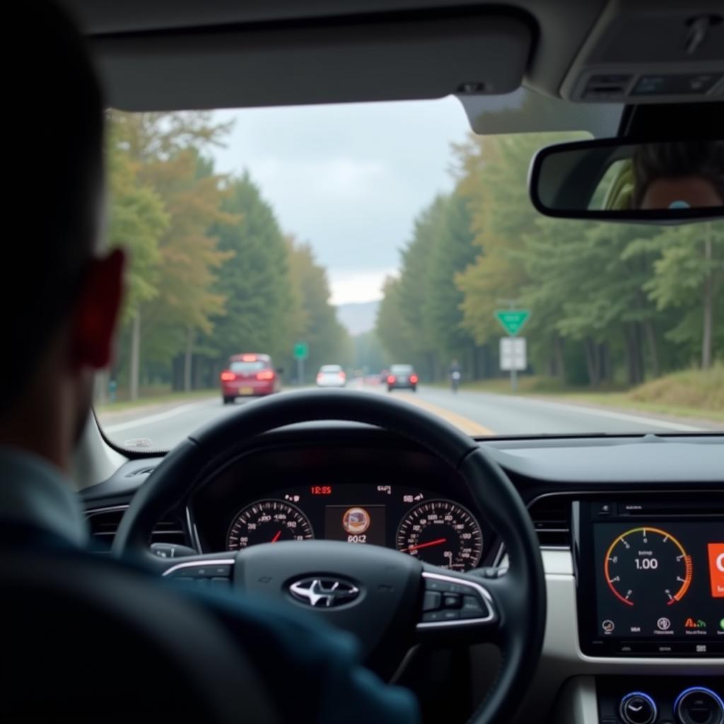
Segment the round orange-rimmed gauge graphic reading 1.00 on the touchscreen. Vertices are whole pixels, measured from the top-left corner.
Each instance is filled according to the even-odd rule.
[[[669,606],[691,586],[691,556],[677,539],[658,528],[632,528],[610,545],[606,581],[627,606]]]

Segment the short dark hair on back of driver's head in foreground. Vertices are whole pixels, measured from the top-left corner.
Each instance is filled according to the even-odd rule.
[[[7,169],[0,334],[0,411],[25,390],[67,317],[98,234],[104,182],[104,104],[85,43],[70,19],[46,0],[11,13],[18,42],[11,72],[14,129]],[[14,135],[13,135],[14,133]],[[8,197],[6,197],[8,198]]]

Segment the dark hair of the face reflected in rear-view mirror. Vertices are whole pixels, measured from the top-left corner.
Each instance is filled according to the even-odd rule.
[[[644,143],[633,154],[633,207],[649,185],[662,177],[701,176],[724,198],[724,142],[720,140]]]

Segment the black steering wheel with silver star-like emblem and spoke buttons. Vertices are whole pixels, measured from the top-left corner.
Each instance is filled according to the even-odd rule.
[[[244,442],[282,426],[322,420],[355,421],[395,432],[458,471],[502,538],[508,569],[458,573],[383,547],[325,540],[258,544],[236,553],[175,560],[151,554],[148,541],[156,522]],[[204,426],[169,452],[138,489],[113,550],[119,557],[144,557],[161,575],[186,578],[215,572],[215,578],[228,579],[234,593],[264,594],[305,607],[357,634],[366,664],[384,678],[416,643],[497,644],[500,672],[471,724],[512,719],[542,648],[546,590],[539,543],[508,476],[468,435],[382,395],[291,392],[248,403]]]

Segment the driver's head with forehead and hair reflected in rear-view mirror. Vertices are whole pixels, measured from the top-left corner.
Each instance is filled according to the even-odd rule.
[[[644,143],[633,156],[635,209],[724,204],[724,143]]]

